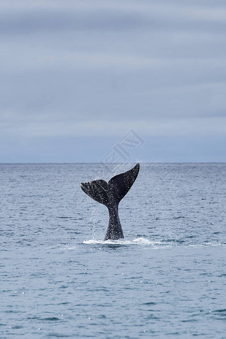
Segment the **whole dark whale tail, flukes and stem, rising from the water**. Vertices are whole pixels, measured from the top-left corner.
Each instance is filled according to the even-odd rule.
[[[109,182],[97,179],[92,182],[82,182],[81,189],[98,203],[107,206],[109,212],[109,224],[105,235],[105,241],[109,239],[123,239],[124,234],[119,220],[119,202],[129,192],[138,176],[140,164],[136,164],[129,171],[117,174]]]

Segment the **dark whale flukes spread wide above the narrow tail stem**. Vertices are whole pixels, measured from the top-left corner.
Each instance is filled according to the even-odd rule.
[[[82,182],[81,189],[98,203],[103,203],[107,208],[118,206],[119,201],[129,192],[140,169],[139,163],[127,172],[112,177],[109,182],[93,180]]]

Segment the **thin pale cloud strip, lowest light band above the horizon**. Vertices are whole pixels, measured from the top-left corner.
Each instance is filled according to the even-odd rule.
[[[137,120],[87,120],[87,121],[49,121],[26,120],[17,124],[1,124],[3,130],[12,138],[55,138],[81,136],[117,136],[120,138],[129,130],[136,128],[141,136],[225,136],[226,117],[192,117],[184,119],[137,119]],[[1,138],[5,133],[1,134]]]

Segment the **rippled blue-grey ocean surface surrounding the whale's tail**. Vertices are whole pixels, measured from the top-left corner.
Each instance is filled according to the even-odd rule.
[[[226,338],[226,164],[141,164],[103,242],[131,167],[0,165],[1,339]]]

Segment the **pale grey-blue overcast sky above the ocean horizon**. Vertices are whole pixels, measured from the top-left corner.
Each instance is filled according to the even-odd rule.
[[[225,0],[1,0],[0,162],[226,162]]]

